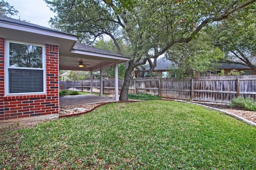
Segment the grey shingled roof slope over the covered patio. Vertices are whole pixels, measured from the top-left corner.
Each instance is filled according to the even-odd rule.
[[[120,55],[120,54],[112,53],[112,52],[109,52],[109,51],[98,49],[96,47],[92,47],[92,46],[85,45],[85,44],[78,43],[78,42],[76,42],[73,49],[74,50],[79,50],[79,51],[90,52],[90,53],[97,53],[97,54],[110,55],[110,56],[116,56],[116,57],[125,57],[125,56]],[[126,58],[129,58],[129,57],[126,57]]]

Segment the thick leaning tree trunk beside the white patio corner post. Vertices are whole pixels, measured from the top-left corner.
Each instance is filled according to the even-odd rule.
[[[128,101],[128,92],[129,92],[129,84],[130,80],[132,78],[132,70],[133,70],[133,61],[129,61],[128,68],[126,69],[125,75],[124,75],[124,84],[122,86],[121,92],[120,92],[120,101]]]

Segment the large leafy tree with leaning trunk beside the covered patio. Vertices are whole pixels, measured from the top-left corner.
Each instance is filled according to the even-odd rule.
[[[136,66],[156,59],[175,44],[189,43],[210,23],[232,17],[256,0],[45,0],[57,13],[50,22],[75,33],[79,41],[92,43],[108,35],[119,54],[117,39],[129,47],[120,100],[128,100],[131,73]],[[247,9],[246,9],[247,10]]]

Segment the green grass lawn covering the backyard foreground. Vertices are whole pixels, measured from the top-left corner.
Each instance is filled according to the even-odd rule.
[[[111,103],[0,130],[0,169],[256,169],[256,128],[193,104]]]

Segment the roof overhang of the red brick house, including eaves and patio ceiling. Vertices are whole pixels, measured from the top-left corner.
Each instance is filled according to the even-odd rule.
[[[76,35],[11,18],[0,20],[0,37],[15,41],[58,45],[60,70],[96,71],[115,63],[129,61],[129,58],[114,53],[108,53],[108,55],[97,53],[94,47],[93,51],[74,49],[77,42]],[[86,48],[90,50],[89,46]],[[79,62],[90,65],[79,67]]]

